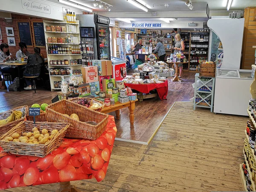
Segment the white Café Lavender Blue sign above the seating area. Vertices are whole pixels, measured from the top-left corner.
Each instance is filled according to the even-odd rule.
[[[51,7],[44,3],[31,0],[21,0],[22,8],[30,11],[51,14]]]

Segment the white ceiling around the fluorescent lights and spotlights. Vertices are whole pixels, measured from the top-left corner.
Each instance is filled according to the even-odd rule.
[[[58,0],[50,0],[58,3]],[[94,0],[77,0],[81,3],[87,3],[93,6]],[[126,0],[103,0],[105,3],[111,4],[111,12],[143,12],[141,9],[133,6]],[[174,11],[190,11],[185,5],[186,0],[144,0],[152,9],[149,12],[174,12]],[[223,6],[223,2],[227,0],[191,0],[194,6],[192,11],[205,10],[206,4],[209,4],[210,10],[227,10],[227,6]],[[165,8],[164,4],[168,3],[169,7]],[[242,10],[248,6],[256,6],[256,0],[233,0],[230,10]],[[93,9],[96,12],[106,12],[104,7]]]

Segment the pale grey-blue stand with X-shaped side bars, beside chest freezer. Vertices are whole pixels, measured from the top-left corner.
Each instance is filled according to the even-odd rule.
[[[177,65],[176,65],[177,66]],[[213,96],[214,96],[214,87],[215,87],[215,77],[204,77],[204,78],[210,78],[208,81],[201,81],[201,78],[199,77],[199,73],[195,74],[195,92],[194,92],[194,110],[195,107],[201,107],[201,108],[210,108],[211,112],[213,110]],[[197,81],[200,81],[202,83],[201,86],[197,86]],[[207,84],[212,81],[212,88],[210,89]],[[208,90],[200,90],[201,87],[207,87]],[[203,97],[201,93],[207,93],[207,96]],[[201,98],[200,101],[196,102],[196,97]],[[206,99],[211,100],[210,104],[209,101]]]

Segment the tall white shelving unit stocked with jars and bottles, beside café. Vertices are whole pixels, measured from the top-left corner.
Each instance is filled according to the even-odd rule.
[[[46,26],[66,26],[67,27],[67,32],[47,32],[46,31]],[[69,25],[74,25],[76,26],[76,32],[69,32],[68,31],[68,26]],[[79,21],[77,20],[76,23],[67,23],[63,21],[50,21],[50,20],[44,20],[44,34],[45,34],[45,42],[47,42],[47,59],[48,59],[48,67],[49,69],[51,68],[70,68],[71,70],[81,70],[82,65],[77,64],[77,65],[70,65],[70,60],[73,59],[81,59],[81,54],[48,54],[48,46],[50,45],[65,45],[65,47],[78,47],[79,44],[77,43],[48,43],[48,37],[65,37],[67,38],[68,35],[73,35],[75,37],[78,37],[78,41],[80,41],[80,30],[79,30]],[[51,60],[65,60],[67,59],[69,64],[68,65],[50,65],[49,62]],[[61,90],[61,88],[55,88],[54,87],[54,81],[61,81],[61,78],[66,79],[69,81],[69,75],[64,75],[64,76],[51,76],[49,73],[50,77],[50,85],[51,85],[51,90]],[[76,75],[77,79],[82,81],[82,75]]]

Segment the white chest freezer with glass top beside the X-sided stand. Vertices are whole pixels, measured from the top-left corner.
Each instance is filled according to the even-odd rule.
[[[216,70],[213,112],[248,116],[251,70]]]

